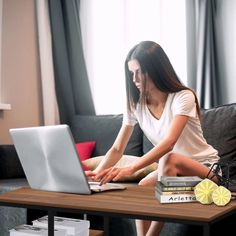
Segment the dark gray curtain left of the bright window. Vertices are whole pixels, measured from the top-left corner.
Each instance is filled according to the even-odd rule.
[[[60,122],[95,109],[83,55],[79,0],[49,0],[55,85]]]

